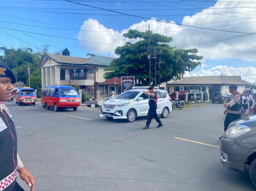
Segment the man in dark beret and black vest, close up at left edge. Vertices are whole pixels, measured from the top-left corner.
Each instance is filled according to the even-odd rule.
[[[9,101],[12,94],[12,83],[16,77],[12,70],[0,63],[0,191],[24,191],[16,182],[16,171],[19,176],[34,190],[33,176],[23,166],[17,154],[17,135],[13,117],[2,101]]]

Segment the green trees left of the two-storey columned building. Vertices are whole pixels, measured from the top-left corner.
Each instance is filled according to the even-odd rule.
[[[26,84],[28,79],[28,65],[30,76],[41,75],[41,68],[39,63],[41,60],[40,53],[32,53],[31,48],[8,49],[7,47],[0,47],[0,62],[9,66],[17,76],[17,81]],[[40,85],[41,87],[41,85]]]

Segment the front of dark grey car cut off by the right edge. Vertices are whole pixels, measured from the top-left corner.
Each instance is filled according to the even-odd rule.
[[[250,165],[250,178],[256,187],[256,115],[229,124],[221,139],[221,163],[232,170],[245,172]],[[247,169],[247,168],[246,168]]]

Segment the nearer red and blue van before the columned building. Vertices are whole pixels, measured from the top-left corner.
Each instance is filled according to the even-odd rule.
[[[76,89],[71,86],[45,86],[41,104],[47,110],[53,108],[56,112],[71,108],[76,111],[80,106],[80,98]]]

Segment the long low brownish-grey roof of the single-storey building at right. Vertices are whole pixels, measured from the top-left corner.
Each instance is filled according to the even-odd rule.
[[[184,77],[183,80],[168,83],[168,85],[195,85],[195,84],[237,84],[237,85],[253,85],[241,79],[240,75],[232,76],[194,76]]]

